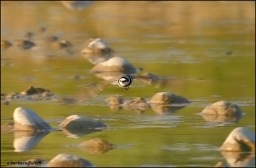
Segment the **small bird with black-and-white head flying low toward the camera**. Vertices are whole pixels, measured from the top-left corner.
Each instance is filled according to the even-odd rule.
[[[117,84],[120,87],[128,90],[134,79],[141,80],[142,82],[153,85],[156,88],[162,88],[165,86],[167,80],[167,78],[157,77],[151,73],[147,73],[146,75],[123,74],[99,84],[89,84],[85,86],[85,89],[87,96],[96,97],[101,91],[105,89],[107,85],[115,81],[117,81]]]

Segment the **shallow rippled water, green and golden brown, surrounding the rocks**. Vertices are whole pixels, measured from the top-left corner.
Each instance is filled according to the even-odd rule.
[[[38,27],[46,27],[46,32]],[[26,32],[37,45],[23,50],[14,45]],[[73,44],[70,51],[54,50],[41,40],[55,35]],[[1,105],[1,124],[12,122],[14,109],[33,109],[53,128],[70,115],[103,121],[109,129],[67,137],[52,131],[30,151],[13,148],[13,134],[1,134],[1,166],[7,162],[41,158],[49,161],[67,153],[96,167],[212,167],[229,163],[218,148],[237,127],[255,131],[255,2],[254,1],[97,1],[82,10],[59,1],[1,1],[1,39],[13,43],[1,49],[1,93],[22,92],[30,85],[59,97],[77,97],[86,84],[99,82],[94,66],[82,54],[89,38],[102,38],[114,56],[159,76],[185,79],[165,90],[135,81],[128,91],[109,85],[84,104],[60,105],[50,100],[13,99]],[[79,79],[72,77],[78,75]],[[105,98],[144,97],[158,92],[182,96],[191,104],[174,113],[113,111]],[[244,115],[222,123],[198,115],[217,101],[231,101]],[[102,138],[119,148],[95,156],[71,146]],[[246,161],[246,160],[245,160]],[[255,166],[255,155],[249,166]],[[234,166],[229,163],[230,166]]]

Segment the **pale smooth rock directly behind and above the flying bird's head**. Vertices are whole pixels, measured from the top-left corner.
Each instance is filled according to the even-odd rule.
[[[134,67],[131,63],[129,63],[126,59],[121,57],[113,57],[107,61],[101,62],[95,65],[91,72],[121,72],[121,73],[129,73],[133,74],[137,71],[141,71],[141,68]]]

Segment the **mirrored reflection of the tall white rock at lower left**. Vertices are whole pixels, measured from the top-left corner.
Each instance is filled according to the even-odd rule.
[[[16,152],[29,151],[42,140],[44,136],[49,134],[50,131],[18,131],[14,130],[13,147]]]

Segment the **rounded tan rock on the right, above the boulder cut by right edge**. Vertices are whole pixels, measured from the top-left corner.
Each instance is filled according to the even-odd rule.
[[[205,115],[243,115],[243,111],[239,108],[238,105],[227,102],[227,101],[219,101],[213,104],[208,105],[203,109],[201,114]]]

